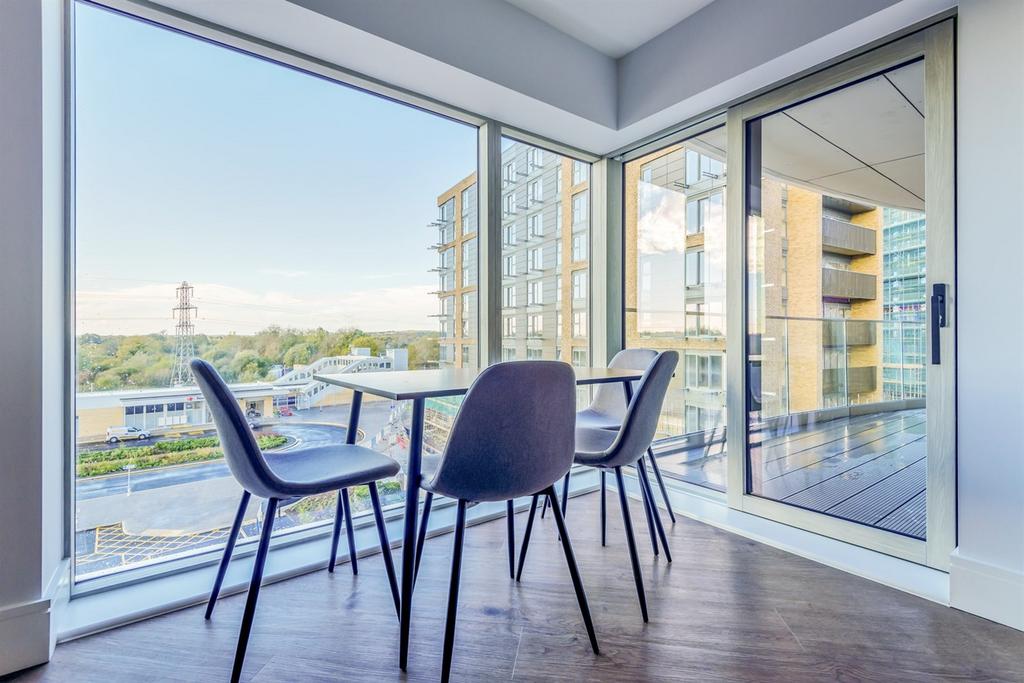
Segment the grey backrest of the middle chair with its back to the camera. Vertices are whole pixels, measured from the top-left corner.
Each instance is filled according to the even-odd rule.
[[[500,362],[473,382],[430,482],[467,501],[543,490],[572,465],[575,376],[557,360]]]

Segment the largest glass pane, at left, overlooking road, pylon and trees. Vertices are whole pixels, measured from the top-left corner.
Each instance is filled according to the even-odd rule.
[[[475,361],[438,344],[475,342],[462,327],[475,290],[460,296],[475,247],[457,244],[476,229],[475,188],[437,190],[474,169],[477,131],[93,5],[75,11],[82,581],[222,547],[241,489],[193,356],[223,374],[268,450],[344,442],[349,394],[313,372]],[[408,418],[368,400],[358,436],[403,461]],[[401,498],[398,481],[382,490]],[[351,493],[359,513],[367,492]],[[334,508],[332,496],[287,506],[275,532]],[[243,544],[262,515],[254,501]]]

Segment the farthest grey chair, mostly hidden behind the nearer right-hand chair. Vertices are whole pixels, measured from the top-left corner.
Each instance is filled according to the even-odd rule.
[[[614,368],[618,370],[647,370],[650,364],[654,362],[654,358],[657,357],[657,351],[649,348],[628,348],[620,351],[608,364],[609,368]],[[631,383],[633,386],[631,390],[636,389],[636,382]],[[617,431],[623,425],[623,420],[626,418],[626,405],[627,398],[626,392],[623,391],[623,386],[618,384],[599,384],[594,391],[594,398],[590,405],[584,410],[577,413],[577,427],[578,428],[593,428],[593,429],[611,429]],[[657,466],[657,459],[654,457],[654,451],[650,446],[647,447],[647,460],[650,464],[650,468],[654,472],[654,477],[657,480],[658,488],[662,490],[662,498],[665,500],[665,507],[669,511],[669,518],[672,523],[676,523],[676,513],[672,510],[672,502],[669,500],[669,492],[666,488],[665,480],[662,478],[662,470]],[[643,467],[644,461],[641,459],[637,462],[636,467]],[[605,545],[606,538],[606,516],[605,516],[605,488],[606,488],[606,472],[601,470],[601,545]],[[568,476],[562,482],[562,515],[565,514],[566,506],[568,505],[568,487],[569,479]],[[650,502],[653,503],[653,497],[650,497]],[[544,517],[548,510],[547,501],[545,501],[544,508],[541,510],[541,517]],[[660,512],[657,506],[654,505],[650,509],[647,507],[647,498],[644,498],[644,513],[647,518],[648,524],[650,524],[655,518],[659,523]],[[657,537],[654,535],[654,528],[650,528],[651,545],[654,550],[654,554],[657,555]],[[669,551],[668,547],[665,549],[666,556],[669,561],[672,561],[672,553]]]

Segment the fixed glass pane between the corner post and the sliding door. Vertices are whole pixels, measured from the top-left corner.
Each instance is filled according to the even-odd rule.
[[[682,359],[663,472],[725,490],[725,129],[626,165],[626,344]]]

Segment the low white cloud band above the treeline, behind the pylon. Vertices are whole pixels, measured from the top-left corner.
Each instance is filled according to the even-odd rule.
[[[196,332],[250,334],[271,325],[328,330],[433,330],[438,310],[431,287],[384,287],[328,292],[298,297],[281,290],[246,290],[213,283],[194,283]],[[173,285],[140,285],[109,290],[79,290],[76,328],[79,334],[147,334],[172,332],[176,321]]]

